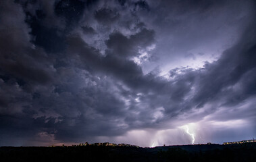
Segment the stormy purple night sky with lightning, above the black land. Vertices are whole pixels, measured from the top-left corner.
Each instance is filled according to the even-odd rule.
[[[0,146],[256,138],[256,2],[0,1]]]

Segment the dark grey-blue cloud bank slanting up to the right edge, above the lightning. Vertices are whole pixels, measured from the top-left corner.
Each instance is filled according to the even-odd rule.
[[[203,70],[205,72],[202,72],[198,82],[199,88],[197,89],[199,91],[195,95],[195,101],[199,102],[199,106],[212,99],[212,97],[222,98],[222,94],[228,97],[232,96],[232,94],[229,95],[228,93],[238,92],[239,90],[236,90],[237,84],[242,84],[240,85],[240,90],[245,90],[245,94],[254,94],[255,86],[251,81],[255,78],[253,72],[255,72],[256,59],[256,40],[255,36],[253,36],[255,35],[253,26],[255,26],[255,22],[242,35],[237,45],[224,51],[218,61],[205,64],[205,70]],[[249,74],[251,75],[248,77]],[[245,97],[241,94],[239,96],[240,99],[234,98],[234,100],[239,102]]]

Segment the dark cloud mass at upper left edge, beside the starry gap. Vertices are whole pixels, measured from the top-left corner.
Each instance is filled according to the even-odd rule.
[[[5,4],[6,7],[3,7]],[[47,58],[43,49],[29,43],[30,30],[24,24],[22,9],[12,6],[11,2],[1,5],[1,12],[5,13],[5,16],[1,14],[1,74],[46,84],[51,80],[51,68],[47,67],[51,58]],[[15,17],[17,19],[12,20]]]

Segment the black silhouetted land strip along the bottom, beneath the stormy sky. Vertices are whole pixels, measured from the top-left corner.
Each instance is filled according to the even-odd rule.
[[[0,161],[256,161],[256,142],[136,148],[127,146],[0,147]]]

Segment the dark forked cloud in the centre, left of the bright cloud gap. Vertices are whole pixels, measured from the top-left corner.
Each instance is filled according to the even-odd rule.
[[[109,49],[107,55],[103,57],[97,49],[86,45],[81,38],[74,37],[70,38],[68,53],[77,53],[87,70],[103,72],[103,74],[121,79],[122,82],[126,82],[132,87],[142,86],[142,88],[147,89],[144,84],[150,84],[147,80],[153,80],[153,78],[150,75],[144,77],[141,68],[126,57],[138,55],[135,50],[137,45],[147,47],[152,42],[153,32],[146,29],[130,36],[130,38],[120,33],[114,33],[109,36],[107,41]]]

